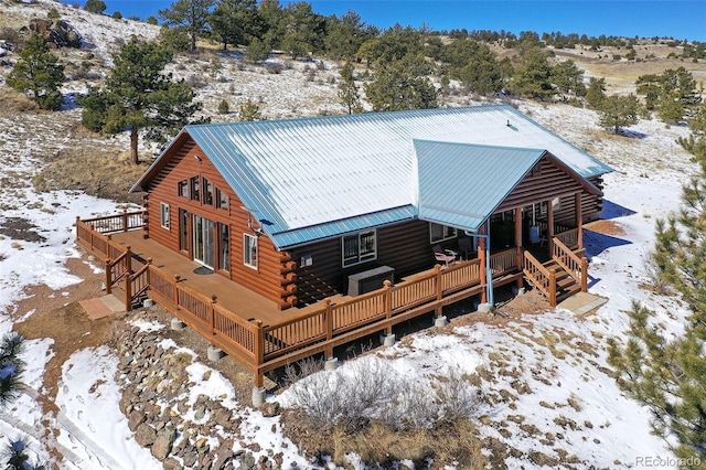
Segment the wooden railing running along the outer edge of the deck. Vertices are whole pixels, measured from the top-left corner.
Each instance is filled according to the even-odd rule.
[[[121,271],[126,307],[131,308],[137,296],[147,293],[212,344],[254,371],[257,386],[261,386],[263,372],[282,361],[329,351],[342,341],[383,329],[389,331],[396,322],[431,310],[440,311],[445,302],[463,298],[459,293],[464,289],[477,289],[484,279],[484,274],[481,275],[484,269],[482,257],[449,267],[436,266],[395,286],[386,284],[381,289],[339,303],[324,300],[320,308],[301,317],[263,324],[259,320],[237,316],[227,306],[218,303],[215,296],[208,297],[190,288],[179,276],[169,275],[151,260],[132,273],[131,266],[122,263],[122,259],[131,258],[128,256],[129,247],[116,244],[101,231],[138,228],[138,218],[132,218],[131,214],[106,218],[107,222],[77,220],[77,241],[107,260],[110,268],[119,267],[117,271]],[[492,255],[493,277],[520,270],[517,259],[516,248]],[[111,281],[115,273],[110,274]]]

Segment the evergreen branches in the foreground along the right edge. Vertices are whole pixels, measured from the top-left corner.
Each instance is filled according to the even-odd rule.
[[[699,114],[703,111],[703,106]],[[609,362],[620,387],[645,405],[653,431],[676,444],[676,457],[687,467],[706,468],[706,116],[695,122],[688,148],[700,164],[700,174],[683,190],[678,214],[656,223],[652,259],[661,278],[686,302],[691,314],[681,335],[673,335],[655,320],[655,312],[638,303],[630,316],[629,340],[623,346],[609,342]],[[698,462],[700,460],[700,463]]]

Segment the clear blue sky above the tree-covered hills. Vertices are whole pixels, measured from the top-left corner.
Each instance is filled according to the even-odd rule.
[[[107,13],[147,18],[168,8],[170,0],[104,0]],[[83,3],[84,1],[82,1]],[[280,3],[287,3],[281,1]],[[706,1],[674,0],[314,0],[313,10],[342,15],[357,12],[367,24],[387,28],[429,25],[432,30],[560,31],[588,35],[673,36],[706,42]]]

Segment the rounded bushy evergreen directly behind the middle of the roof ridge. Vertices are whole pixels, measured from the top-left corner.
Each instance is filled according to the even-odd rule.
[[[426,77],[430,71],[420,55],[408,55],[379,68],[374,82],[365,86],[373,110],[436,108],[439,92]]]

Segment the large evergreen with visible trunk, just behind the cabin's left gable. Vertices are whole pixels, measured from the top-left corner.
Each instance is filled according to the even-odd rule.
[[[163,141],[201,109],[192,103],[194,93],[188,84],[172,82],[171,74],[163,73],[171,60],[172,53],[161,45],[132,39],[114,57],[106,87],[92,90],[82,100],[82,121],[87,128],[109,135],[130,131],[135,163],[139,163],[140,130],[147,131],[148,139]]]

